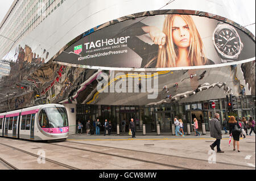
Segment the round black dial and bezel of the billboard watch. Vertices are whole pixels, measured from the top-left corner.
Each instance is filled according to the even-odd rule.
[[[222,27],[222,28],[221,28]],[[241,51],[241,41],[236,30],[221,26],[214,32],[214,44],[223,56],[236,56]]]

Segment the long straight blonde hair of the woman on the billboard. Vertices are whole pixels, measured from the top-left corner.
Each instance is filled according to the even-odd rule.
[[[176,67],[177,54],[179,52],[178,48],[172,40],[172,23],[177,14],[169,14],[164,20],[163,33],[166,34],[166,44],[158,50],[158,57],[156,62],[156,68],[170,68]],[[190,15],[179,15],[188,24],[189,32],[191,34],[188,58],[191,60],[191,66],[205,65],[208,59],[205,58],[203,41],[197,31],[196,25]],[[145,66],[146,68],[151,64],[152,61],[156,59],[153,58]]]

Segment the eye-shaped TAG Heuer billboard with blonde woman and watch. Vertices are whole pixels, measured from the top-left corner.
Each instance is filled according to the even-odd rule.
[[[161,14],[115,23],[71,44],[56,62],[85,68],[212,68],[255,60],[238,28],[197,15]]]

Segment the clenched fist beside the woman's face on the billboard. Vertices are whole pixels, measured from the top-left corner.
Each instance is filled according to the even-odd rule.
[[[149,33],[151,40],[154,41],[156,45],[159,45],[159,48],[162,48],[162,45],[166,44],[166,34],[164,34],[159,28],[147,26],[142,27],[142,30]]]

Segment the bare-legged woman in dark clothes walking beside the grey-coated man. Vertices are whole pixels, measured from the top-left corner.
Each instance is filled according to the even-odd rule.
[[[237,151],[240,152],[239,150],[239,138],[240,138],[240,134],[242,132],[242,128],[240,127],[240,125],[238,124],[238,122],[236,121],[234,116],[230,116],[229,119],[229,134],[232,133],[233,136],[233,146],[234,149],[236,150],[236,142],[237,142]]]

